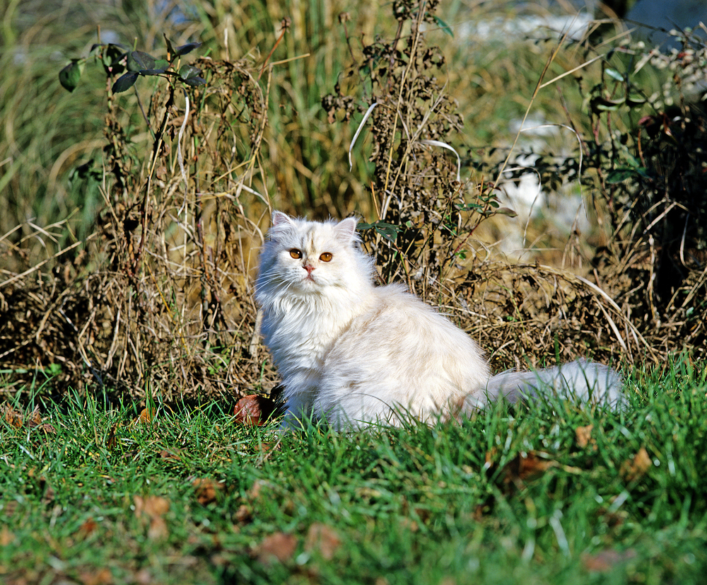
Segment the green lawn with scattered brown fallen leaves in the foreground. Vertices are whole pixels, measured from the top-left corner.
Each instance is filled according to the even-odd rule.
[[[0,421],[0,581],[704,582],[704,377],[682,361],[633,373],[621,414],[499,405],[281,442],[218,405],[158,405],[144,423],[74,395],[40,405],[51,428],[15,405],[23,425]],[[537,473],[514,473],[529,453]]]

